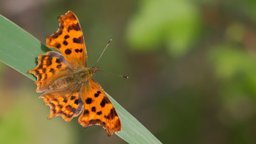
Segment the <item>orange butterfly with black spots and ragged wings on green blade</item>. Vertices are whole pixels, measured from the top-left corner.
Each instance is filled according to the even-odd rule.
[[[121,120],[99,83],[92,79],[98,67],[88,68],[87,52],[76,15],[68,11],[58,17],[58,31],[47,36],[46,45],[61,52],[38,55],[38,65],[28,74],[37,77],[36,92],[51,107],[48,118],[62,116],[70,122],[78,116],[84,128],[101,125],[108,136],[121,131]]]

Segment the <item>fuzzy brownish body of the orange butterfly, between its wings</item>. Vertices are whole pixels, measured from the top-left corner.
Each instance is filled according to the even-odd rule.
[[[91,68],[83,68],[81,70],[77,70],[71,72],[68,76],[62,76],[56,81],[54,81],[51,86],[49,86],[50,90],[63,88],[68,86],[69,84],[76,84],[79,86],[82,82],[88,81],[93,75],[96,74],[98,67]]]

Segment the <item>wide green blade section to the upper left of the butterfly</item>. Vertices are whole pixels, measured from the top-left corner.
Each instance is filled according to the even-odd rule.
[[[0,61],[36,81],[28,70],[36,66],[38,54],[50,51],[44,44],[0,15]]]

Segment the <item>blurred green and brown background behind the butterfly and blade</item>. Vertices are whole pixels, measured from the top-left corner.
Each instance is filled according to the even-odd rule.
[[[76,13],[95,80],[163,143],[256,143],[256,1],[1,0],[45,44]],[[1,26],[1,24],[0,24]],[[47,120],[28,77],[0,63],[0,143],[125,143],[77,118]]]

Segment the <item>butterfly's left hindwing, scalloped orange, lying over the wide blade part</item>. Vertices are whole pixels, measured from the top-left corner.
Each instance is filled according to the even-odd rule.
[[[36,92],[44,92],[58,77],[65,76],[73,70],[58,52],[50,51],[46,54],[40,54],[37,61],[38,65],[27,72],[37,77]]]

